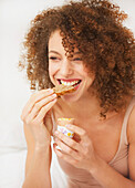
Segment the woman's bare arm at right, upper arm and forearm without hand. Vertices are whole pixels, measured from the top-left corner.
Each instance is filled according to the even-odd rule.
[[[93,169],[90,173],[104,188],[135,188],[135,108],[128,119],[128,167],[129,179],[118,174],[104,160],[97,158]]]

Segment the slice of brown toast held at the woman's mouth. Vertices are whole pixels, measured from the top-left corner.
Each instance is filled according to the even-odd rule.
[[[75,88],[72,85],[56,85],[55,87],[53,87],[54,93],[58,96],[64,95],[65,93],[71,93],[74,92]]]

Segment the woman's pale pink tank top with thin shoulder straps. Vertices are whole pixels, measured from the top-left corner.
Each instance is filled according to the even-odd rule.
[[[122,174],[127,178],[128,178],[128,161],[127,161],[128,142],[127,142],[126,129],[127,129],[127,121],[134,105],[135,105],[135,97],[133,97],[133,100],[131,101],[127,111],[125,113],[125,117],[121,130],[118,149],[114,158],[108,163],[110,166],[112,166],[115,170],[117,170],[120,174]],[[58,160],[61,168],[68,176],[68,181],[69,181],[68,188],[103,188],[86,170],[75,168],[59,157]]]

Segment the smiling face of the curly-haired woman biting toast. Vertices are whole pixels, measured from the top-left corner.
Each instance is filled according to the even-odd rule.
[[[75,92],[62,96],[70,102],[86,96],[94,81],[94,74],[87,73],[77,49],[74,49],[73,58],[68,59],[59,30],[53,32],[49,40],[49,75],[54,85],[76,84]]]

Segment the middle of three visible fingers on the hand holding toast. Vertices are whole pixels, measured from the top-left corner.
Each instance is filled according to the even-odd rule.
[[[58,97],[56,94],[53,94],[35,103],[31,111],[31,118],[34,118],[43,106],[45,106],[48,103],[50,103],[56,97]]]

